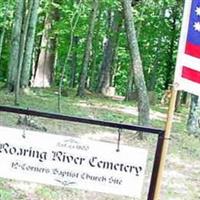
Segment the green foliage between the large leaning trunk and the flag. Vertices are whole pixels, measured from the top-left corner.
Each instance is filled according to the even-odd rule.
[[[153,89],[160,95],[167,89],[168,75],[170,83],[173,79],[182,4],[174,0],[144,1],[143,6],[137,6],[135,15],[147,86],[155,84]]]

